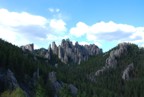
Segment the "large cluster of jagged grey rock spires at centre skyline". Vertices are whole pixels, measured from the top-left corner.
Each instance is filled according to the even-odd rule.
[[[101,54],[102,50],[94,44],[82,46],[76,42],[73,45],[69,39],[63,39],[58,47],[55,42],[52,43],[52,52],[64,63],[73,62],[80,64],[81,61],[86,61],[89,56]]]

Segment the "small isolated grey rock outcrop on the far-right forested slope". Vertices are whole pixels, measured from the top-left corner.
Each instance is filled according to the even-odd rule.
[[[123,71],[122,79],[129,80],[134,75],[134,64],[131,63],[127,66],[127,68]]]

